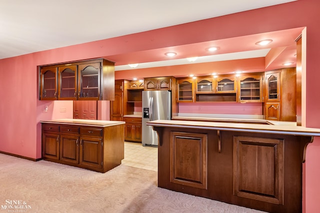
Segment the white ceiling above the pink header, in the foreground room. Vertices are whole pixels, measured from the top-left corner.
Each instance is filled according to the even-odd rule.
[[[0,59],[294,0],[0,0]]]

